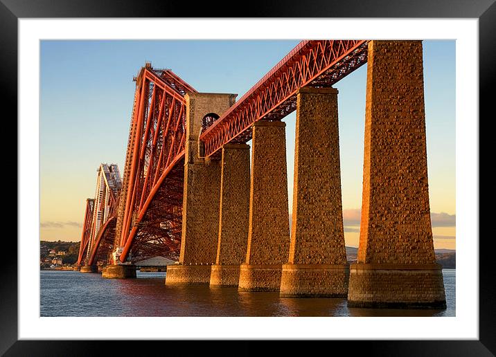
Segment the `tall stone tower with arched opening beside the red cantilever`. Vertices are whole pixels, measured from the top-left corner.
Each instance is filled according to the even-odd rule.
[[[184,163],[183,219],[179,265],[167,268],[166,285],[209,284],[219,233],[219,160],[200,157],[202,119],[221,116],[235,94],[188,93],[186,99],[186,148]]]

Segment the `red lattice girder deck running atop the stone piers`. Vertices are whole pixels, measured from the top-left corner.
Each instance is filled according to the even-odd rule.
[[[300,42],[204,131],[205,156],[220,155],[224,144],[249,141],[249,128],[257,120],[281,120],[296,110],[296,91],[302,86],[332,86],[366,60],[366,40]]]

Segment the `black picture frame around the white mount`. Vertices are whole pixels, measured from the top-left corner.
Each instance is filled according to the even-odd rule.
[[[11,124],[10,132],[17,134],[17,20],[19,18],[76,18],[76,17],[347,17],[347,18],[474,18],[479,19],[479,118],[493,113],[494,101],[491,89],[496,77],[496,0],[318,0],[318,1],[250,1],[238,3],[200,2],[192,6],[186,1],[132,1],[132,0],[0,0],[0,101],[4,114],[3,124]],[[245,5],[245,6],[243,6]],[[232,9],[229,14],[224,10]],[[457,98],[459,100],[459,98]],[[486,118],[489,120],[490,118]],[[474,118],[478,120],[478,118]],[[479,120],[480,123],[482,120]],[[13,125],[13,123],[16,125]],[[484,131],[483,131],[484,132]],[[6,142],[3,140],[3,142]],[[479,143],[481,140],[479,139]],[[18,182],[17,156],[8,154],[14,145],[4,145],[3,163],[9,167],[6,181],[10,185]],[[483,152],[479,150],[482,154]],[[479,161],[481,162],[481,161]],[[4,171],[5,174],[5,171]],[[480,174],[479,174],[480,175]],[[481,177],[481,176],[479,176]],[[22,187],[17,187],[22,190]],[[12,192],[5,192],[6,194]],[[16,202],[17,196],[10,199]],[[17,207],[17,205],[16,205]],[[10,208],[12,211],[13,208]],[[479,212],[481,212],[479,210]],[[487,214],[481,212],[481,214]],[[6,218],[4,217],[4,220]],[[12,221],[12,219],[10,219]],[[480,221],[480,218],[479,218]],[[9,226],[5,224],[4,227]],[[10,226],[14,226],[11,222]],[[16,225],[17,227],[17,225]],[[168,345],[168,351],[179,353],[181,341],[69,341],[69,340],[18,340],[17,338],[17,241],[4,228],[3,248],[8,254],[2,258],[0,269],[0,354],[5,356],[100,356],[114,351],[130,351],[131,347],[146,345],[152,351]],[[16,230],[17,233],[17,230]],[[17,235],[17,234],[16,234]],[[479,239],[479,237],[473,237]],[[490,238],[490,237],[486,237]],[[479,239],[479,340],[389,340],[389,341],[326,341],[312,342],[310,353],[315,353],[322,343],[339,351],[344,348],[352,354],[368,356],[493,356],[496,354],[496,294],[495,268],[491,264],[490,239]],[[68,327],[70,328],[70,327]],[[204,351],[215,348],[215,354],[230,354],[229,349],[217,349],[218,341],[203,341]],[[190,343],[190,342],[186,342]],[[223,342],[224,343],[224,342]],[[263,341],[243,341],[236,347],[236,355],[257,354],[263,349]],[[172,344],[172,346],[170,346]],[[215,344],[215,345],[214,345]],[[306,344],[296,346],[285,341],[277,347],[282,353],[299,349],[307,350]],[[303,346],[302,346],[303,345]],[[226,346],[227,347],[227,346]],[[139,347],[144,350],[141,346]],[[161,348],[161,347],[159,347]],[[339,348],[339,349],[337,349]],[[89,353],[91,351],[91,353]],[[313,352],[312,352],[313,351]],[[330,351],[330,350],[329,350]],[[330,351],[331,352],[331,351]],[[117,353],[117,352],[116,352]],[[230,354],[233,355],[233,354]]]

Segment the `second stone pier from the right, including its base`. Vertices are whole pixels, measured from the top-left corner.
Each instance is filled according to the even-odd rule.
[[[293,212],[281,296],[346,297],[337,89],[301,88],[296,99]]]

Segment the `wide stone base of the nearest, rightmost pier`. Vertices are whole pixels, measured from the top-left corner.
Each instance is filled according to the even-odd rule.
[[[348,307],[446,309],[440,264],[352,264]]]

